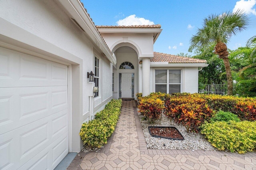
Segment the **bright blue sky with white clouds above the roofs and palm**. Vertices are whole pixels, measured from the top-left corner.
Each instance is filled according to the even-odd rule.
[[[95,25],[160,24],[162,33],[154,51],[188,53],[190,38],[211,14],[242,9],[250,18],[248,28],[232,36],[228,48],[244,47],[256,35],[256,0],[81,0]],[[140,22],[140,23],[139,23]],[[192,54],[193,53],[188,53]]]

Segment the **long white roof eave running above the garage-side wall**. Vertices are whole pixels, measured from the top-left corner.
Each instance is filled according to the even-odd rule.
[[[70,17],[76,20],[80,27],[82,27],[85,34],[90,38],[93,44],[100,49],[100,51],[112,64],[116,64],[116,57],[112,55],[110,49],[102,39],[100,33],[88,16],[81,2],[79,0],[59,0],[59,2],[71,15]]]

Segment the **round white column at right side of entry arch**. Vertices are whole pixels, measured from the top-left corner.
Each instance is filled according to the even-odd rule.
[[[150,94],[150,58],[142,59],[142,96]]]

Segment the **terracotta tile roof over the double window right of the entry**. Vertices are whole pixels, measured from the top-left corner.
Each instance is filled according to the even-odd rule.
[[[206,60],[194,59],[189,57],[181,57],[178,55],[170,55],[165,53],[154,52],[151,62],[168,62],[168,63],[206,63]]]

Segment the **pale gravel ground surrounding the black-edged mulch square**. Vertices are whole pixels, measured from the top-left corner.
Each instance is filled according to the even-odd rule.
[[[189,150],[217,150],[212,145],[206,141],[203,135],[200,133],[187,133],[186,128],[182,125],[178,125],[162,114],[162,119],[155,121],[155,123],[148,123],[148,120],[145,120],[144,117],[138,113],[140,117],[140,123],[142,130],[145,136],[146,144],[148,149],[189,149]],[[172,140],[164,138],[152,137],[148,131],[148,126],[173,126],[176,127],[184,140]]]

